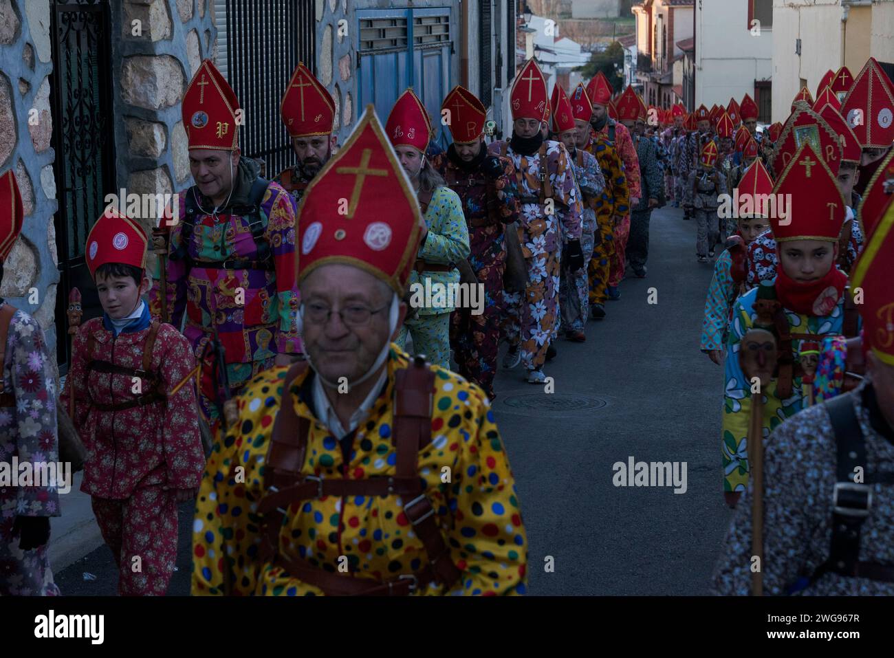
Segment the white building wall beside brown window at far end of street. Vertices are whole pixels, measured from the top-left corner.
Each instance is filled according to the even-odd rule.
[[[746,3],[702,0],[702,9],[696,13],[696,107],[727,105],[730,97],[741,101],[746,93],[754,97],[755,80],[772,75],[775,31],[775,14],[773,29],[764,28],[754,36],[748,30]],[[773,76],[774,105],[775,101]]]

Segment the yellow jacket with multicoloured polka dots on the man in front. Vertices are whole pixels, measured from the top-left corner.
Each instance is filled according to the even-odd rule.
[[[392,399],[395,370],[409,357],[392,345],[388,384],[358,426],[345,463],[342,447],[291,384],[295,412],[311,421],[302,472],[318,477],[395,474]],[[418,595],[520,595],[527,586],[527,538],[515,481],[484,392],[433,366],[432,442],[419,451],[418,472],[451,560],[461,578],[445,591],[434,583]],[[240,418],[215,443],[198,494],[193,527],[193,595],[321,595],[280,567],[260,563],[258,502],[264,461],[283,393],[286,367],[259,375],[240,394]],[[401,498],[326,496],[294,502],[280,533],[280,553],[358,578],[397,578],[426,566],[425,548],[402,512]],[[342,557],[343,556],[343,557]]]

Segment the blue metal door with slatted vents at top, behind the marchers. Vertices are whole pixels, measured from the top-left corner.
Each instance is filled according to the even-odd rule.
[[[387,120],[397,97],[412,87],[432,119],[434,141],[450,143],[441,102],[451,89],[450,7],[358,10],[358,114],[367,104]]]

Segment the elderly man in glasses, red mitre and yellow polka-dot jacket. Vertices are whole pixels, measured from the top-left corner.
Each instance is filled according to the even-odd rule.
[[[525,527],[487,396],[392,343],[424,225],[369,106],[302,204],[308,361],[246,386],[208,460],[194,595],[525,593]]]

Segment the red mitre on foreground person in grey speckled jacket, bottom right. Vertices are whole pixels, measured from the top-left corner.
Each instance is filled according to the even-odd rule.
[[[851,288],[864,293],[864,303],[857,306],[863,338],[878,359],[894,366],[894,206],[889,204],[864,244],[851,272]]]

